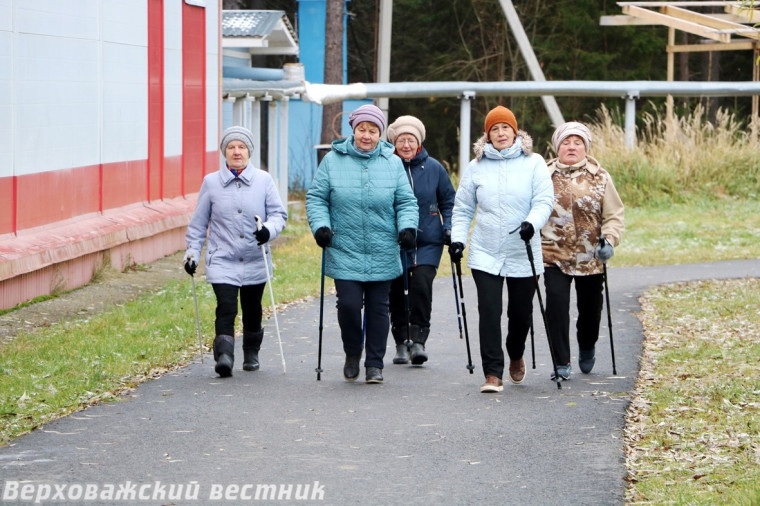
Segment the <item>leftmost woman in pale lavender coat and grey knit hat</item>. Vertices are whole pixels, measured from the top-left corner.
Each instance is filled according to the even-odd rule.
[[[261,296],[267,282],[260,247],[282,232],[288,213],[272,176],[250,163],[253,153],[250,130],[228,128],[222,134],[220,148],[225,161],[217,172],[203,178],[198,203],[187,227],[185,270],[191,276],[195,274],[208,235],[206,281],[216,295],[215,371],[224,378],[232,375],[235,361],[238,293],[243,311],[243,369],[259,368],[258,353],[264,338]],[[263,220],[258,231],[256,216]],[[267,264],[271,266],[271,253],[268,250],[266,253],[270,256]]]

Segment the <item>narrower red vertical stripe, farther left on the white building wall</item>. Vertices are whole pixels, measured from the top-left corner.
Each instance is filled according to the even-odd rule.
[[[148,0],[148,173],[146,197],[163,197],[164,160],[164,5]]]

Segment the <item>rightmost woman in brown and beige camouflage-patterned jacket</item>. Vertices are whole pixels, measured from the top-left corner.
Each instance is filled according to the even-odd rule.
[[[578,365],[588,374],[596,360],[602,314],[603,266],[620,244],[623,202],[610,174],[588,156],[591,132],[578,122],[552,135],[557,158],[547,165],[554,184],[554,210],[541,230],[549,335],[557,374],[570,378],[570,285],[578,301]],[[554,378],[554,373],[552,373]]]

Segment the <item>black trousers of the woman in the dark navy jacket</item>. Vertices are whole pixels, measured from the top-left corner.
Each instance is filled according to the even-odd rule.
[[[419,327],[430,327],[433,309],[433,280],[436,271],[432,265],[418,265],[409,269],[409,322]],[[404,275],[391,281],[391,325],[406,326],[406,303],[404,301]]]

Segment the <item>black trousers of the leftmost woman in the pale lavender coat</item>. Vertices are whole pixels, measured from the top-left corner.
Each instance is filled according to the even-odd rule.
[[[211,285],[216,295],[216,335],[235,336],[235,318],[237,317],[238,292],[240,308],[243,311],[243,330],[257,332],[261,330],[261,296],[266,283],[260,285]]]

